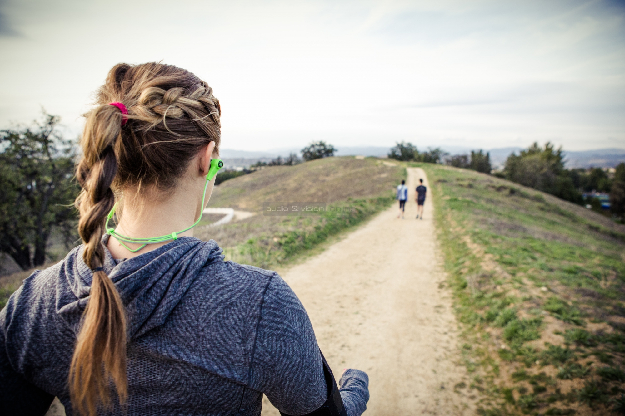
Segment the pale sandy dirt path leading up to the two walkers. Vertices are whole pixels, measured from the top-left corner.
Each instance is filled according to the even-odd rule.
[[[432,198],[417,220],[414,189],[422,169],[408,169],[406,219],[397,205],[287,270],[336,375],[369,374],[366,415],[469,415],[471,400],[454,392],[467,379],[457,365],[457,324],[437,253]],[[428,192],[429,193],[429,192]],[[468,383],[467,383],[468,384]],[[264,398],[262,416],[279,415]]]

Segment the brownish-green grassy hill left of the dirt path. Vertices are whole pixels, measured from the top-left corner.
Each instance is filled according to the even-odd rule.
[[[256,215],[220,227],[200,227],[201,239],[224,247],[226,259],[272,267],[311,249],[329,235],[369,218],[387,207],[406,176],[398,164],[372,157],[328,157],[295,166],[269,166],[223,182],[210,207],[231,207]],[[262,215],[263,202],[328,202],[352,206],[354,212],[314,216]]]

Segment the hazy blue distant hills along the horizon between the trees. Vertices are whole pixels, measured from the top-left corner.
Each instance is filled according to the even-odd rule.
[[[377,156],[384,157],[388,154],[390,147],[381,146],[337,146],[339,148],[336,156]],[[443,149],[450,154],[469,153],[471,149],[454,147]],[[485,149],[490,152],[493,166],[502,166],[506,158],[512,152],[519,152],[522,147],[501,147],[499,149]],[[240,151],[233,149],[221,149],[220,156],[226,163],[226,167],[249,167],[250,165],[262,161],[269,162],[277,156],[286,157],[289,153],[296,153],[301,156],[299,147],[270,149],[265,152]],[[425,149],[423,149],[425,150]],[[589,151],[570,151],[566,154],[566,167],[614,167],[621,162],[625,162],[625,149],[596,149]]]

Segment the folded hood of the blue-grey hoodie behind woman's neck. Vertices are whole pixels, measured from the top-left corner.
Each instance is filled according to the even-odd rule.
[[[106,247],[108,235],[103,239]],[[93,273],[83,260],[83,245],[72,250],[59,270],[56,312],[78,334],[89,302]],[[214,240],[181,237],[156,250],[116,264],[106,250],[104,271],[113,280],[126,307],[129,339],[163,325],[203,267],[222,262]]]

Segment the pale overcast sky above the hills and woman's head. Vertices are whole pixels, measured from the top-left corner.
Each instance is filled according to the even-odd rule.
[[[162,60],[213,87],[229,149],[625,149],[624,4],[2,1],[0,127],[43,106],[78,134],[114,64]]]

